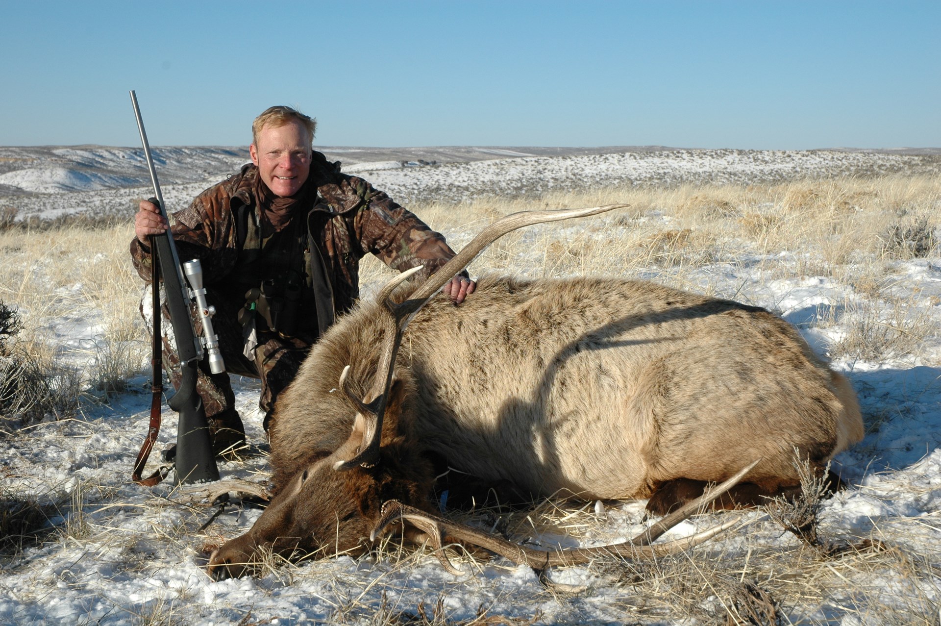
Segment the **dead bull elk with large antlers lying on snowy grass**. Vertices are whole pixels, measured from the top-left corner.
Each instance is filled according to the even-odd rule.
[[[795,448],[822,469],[862,438],[849,382],[758,307],[590,278],[486,276],[458,307],[432,297],[503,233],[616,206],[504,217],[407,299],[391,298],[400,275],[340,319],[279,398],[274,499],[210,574],[240,576],[266,551],[356,554],[391,522],[530,565],[598,554],[531,554],[435,518],[431,453],[520,493],[650,498],[658,514],[692,500],[617,553],[643,556],[672,549],[646,544],[707,483],[744,468],[713,506],[756,504],[799,485]]]

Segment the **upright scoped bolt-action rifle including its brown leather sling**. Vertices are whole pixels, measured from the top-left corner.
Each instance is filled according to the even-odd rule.
[[[147,158],[147,167],[151,171],[154,198],[150,199],[160,210],[160,215],[167,219],[166,205],[160,193],[160,184],[157,182],[157,172],[153,168],[151,146],[147,142],[147,133],[144,131],[144,122],[140,117],[140,108],[137,106],[137,96],[131,91],[131,103],[134,104],[134,114],[137,119],[137,130],[140,131],[140,141],[144,145],[144,156]],[[169,223],[167,219],[167,224]],[[157,471],[149,478],[141,478],[141,472],[151,454],[154,441],[160,431],[160,408],[163,395],[163,378],[161,372],[161,335],[160,335],[160,291],[159,278],[163,278],[164,292],[167,297],[170,326],[176,341],[177,354],[180,356],[182,381],[180,389],[169,399],[170,409],[180,415],[177,425],[177,450],[174,460],[176,480],[178,483],[211,482],[219,479],[219,471],[215,466],[212,440],[209,434],[209,425],[206,423],[206,414],[202,406],[202,399],[196,393],[196,380],[199,374],[198,364],[203,356],[203,345],[208,354],[210,370],[214,374],[225,371],[222,356],[219,353],[218,339],[213,331],[212,316],[215,309],[206,303],[206,290],[202,285],[202,268],[199,259],[188,261],[180,265],[176,245],[169,230],[167,233],[150,236],[152,287],[153,287],[153,383],[151,402],[151,425],[144,445],[137,456],[132,477],[141,485],[151,486],[159,483],[166,476],[166,471]],[[159,267],[159,275],[158,275]],[[189,281],[187,286],[185,273]],[[190,309],[191,297],[196,300],[197,313],[201,322],[203,337],[199,335],[193,325],[193,315]]]

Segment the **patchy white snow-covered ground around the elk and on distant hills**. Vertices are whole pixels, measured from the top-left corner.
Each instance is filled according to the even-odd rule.
[[[0,149],[0,153],[12,158],[12,152],[3,151],[14,150],[21,151],[17,158],[33,158],[30,149]],[[173,150],[180,152],[170,152]],[[242,160],[242,155],[228,150],[170,151],[161,154],[165,163],[191,159],[206,164],[195,168],[201,169],[195,174],[192,166],[179,172],[171,170],[166,177],[161,171],[165,197],[171,204],[191,198],[207,182],[236,168]],[[9,193],[0,199],[0,205],[23,202],[20,206],[24,215],[54,216],[63,211],[97,211],[103,207],[111,211],[123,204],[122,210],[130,216],[131,199],[148,193],[141,186],[146,178],[138,171],[139,158],[133,158],[132,152],[63,150],[56,152],[62,159],[59,163],[42,156],[36,157],[39,163],[23,169],[9,169],[10,161],[3,161],[5,171],[0,174],[0,184],[8,185]],[[630,183],[745,183],[897,170],[937,175],[938,171],[933,156],[874,152],[494,155],[501,158],[430,166],[401,166],[401,160],[411,160],[407,158],[377,158],[372,161],[374,165],[362,161],[349,169],[390,191],[394,198],[442,201],[482,192],[507,195]],[[342,158],[339,149],[336,156]],[[417,163],[423,157],[414,158]],[[110,165],[101,169],[96,166],[92,168],[98,172],[94,176],[79,173],[84,164],[96,159],[109,164],[114,160],[135,161],[135,165],[120,171]],[[105,175],[105,170],[110,173]],[[605,219],[611,221],[596,231],[598,237],[623,227],[614,217]],[[556,229],[565,233],[565,228],[545,225],[534,232]],[[461,241],[471,233],[447,234],[449,239]],[[518,257],[520,272],[526,273],[537,263],[538,259],[524,246]],[[941,301],[941,258],[902,261],[895,269],[898,282],[894,289],[898,295],[908,294],[922,302]],[[766,280],[758,264],[746,259],[737,264],[704,265],[692,270],[689,280],[710,285],[716,293],[735,295],[780,312],[821,353],[844,331],[840,318],[834,321],[830,316],[823,324],[821,317],[828,307],[853,297],[849,285],[799,276],[796,269],[792,277]],[[938,623],[941,311],[936,305],[926,307],[934,332],[917,350],[917,356],[834,363],[852,380],[870,428],[862,443],[836,459],[834,469],[852,487],[827,501],[821,532],[833,538],[880,538],[893,550],[928,565],[914,577],[890,565],[876,573],[854,568],[852,563],[821,565],[820,585],[826,585],[826,576],[836,576],[845,581],[840,583],[842,591],[818,603],[780,598],[792,623],[877,624],[885,615],[894,615],[900,605],[915,607],[914,613],[923,618],[917,623]],[[93,319],[77,315],[71,326],[63,324],[57,332],[63,343],[81,344],[94,342],[100,329]],[[53,520],[64,529],[62,532],[14,559],[0,560],[0,623],[384,623],[383,615],[390,620],[389,616],[395,614],[402,615],[400,621],[392,623],[407,623],[406,618],[416,615],[420,602],[430,615],[439,599],[448,619],[453,620],[448,623],[470,622],[479,607],[489,616],[524,623],[623,623],[626,615],[635,616],[637,607],[644,603],[632,591],[632,584],[615,581],[608,570],[576,567],[554,572],[557,582],[589,586],[587,592],[565,597],[541,586],[533,570],[502,559],[479,566],[465,564],[467,573],[455,577],[427,554],[405,555],[401,560],[388,556],[360,560],[340,557],[299,568],[282,567],[263,578],[214,582],[202,570],[204,549],[245,532],[260,511],[233,507],[205,531],[199,531],[212,509],[183,504],[166,483],[142,489],[129,482],[133,458],[147,430],[148,388],[146,377],[136,378],[131,381],[131,392],[117,394],[107,404],[86,405],[74,419],[43,422],[24,434],[0,440],[0,494],[33,495],[43,501],[56,498],[64,503],[62,517]],[[235,390],[237,408],[246,422],[253,450],[242,460],[221,463],[220,472],[225,477],[262,480],[266,457],[261,416],[256,408],[259,386],[253,380],[237,378]],[[157,449],[175,439],[173,423],[167,409]],[[584,541],[610,542],[638,532],[646,524],[643,505],[589,506],[582,517],[591,518],[597,530]],[[715,517],[705,516],[683,522],[671,536],[690,534],[694,527],[715,521]],[[713,542],[719,547],[696,554],[706,560],[728,559],[734,563],[730,569],[735,576],[741,573],[745,579],[753,550],[798,550],[796,539],[782,533],[763,513],[746,513],[745,523],[749,525]],[[710,555],[710,550],[720,551],[721,557]],[[722,614],[721,593],[707,602],[713,602],[717,614]],[[647,615],[645,623],[677,623],[669,614],[652,611]]]

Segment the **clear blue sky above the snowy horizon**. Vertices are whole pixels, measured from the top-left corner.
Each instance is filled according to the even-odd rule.
[[[0,145],[941,146],[941,2],[10,2]]]

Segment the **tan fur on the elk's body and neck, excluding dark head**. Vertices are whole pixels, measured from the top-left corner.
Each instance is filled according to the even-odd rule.
[[[373,376],[375,304],[314,347],[279,400],[276,483],[335,450],[354,411],[337,386]],[[793,448],[825,463],[862,437],[855,395],[796,330],[756,307],[644,281],[482,279],[409,325],[403,419],[461,471],[522,490],[644,497],[678,477],[794,484]],[[332,396],[332,397],[331,397]]]

